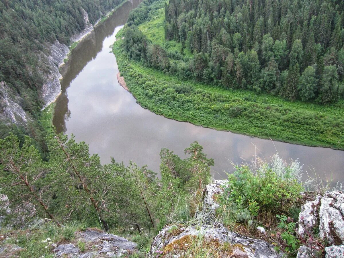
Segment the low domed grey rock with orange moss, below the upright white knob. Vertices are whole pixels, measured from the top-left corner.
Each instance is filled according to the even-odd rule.
[[[154,238],[150,256],[153,257],[170,244],[178,241],[185,236],[203,236],[204,239],[216,239],[219,243],[229,243],[235,246],[240,246],[242,249],[234,250],[235,257],[247,258],[277,258],[282,257],[283,253],[276,252],[274,246],[258,239],[248,238],[230,232],[222,224],[214,223],[213,225],[171,225],[164,227],[159,234]]]

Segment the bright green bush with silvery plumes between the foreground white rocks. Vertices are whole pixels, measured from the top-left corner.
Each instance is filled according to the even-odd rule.
[[[298,162],[286,165],[278,155],[273,157],[271,167],[261,161],[251,167],[237,167],[228,175],[228,181],[222,209],[241,222],[249,222],[257,216],[262,222],[262,218],[270,214],[289,213],[303,190]]]

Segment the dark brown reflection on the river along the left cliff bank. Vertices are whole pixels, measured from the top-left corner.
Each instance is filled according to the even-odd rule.
[[[56,131],[66,132],[66,120],[71,116],[71,111],[68,110],[68,96],[67,88],[71,82],[83,71],[84,67],[103,49],[103,42],[106,37],[111,36],[117,26],[123,25],[127,22],[129,12],[136,8],[140,0],[130,0],[122,4],[114,13],[110,15],[103,23],[96,26],[96,28],[83,39],[73,49],[68,61],[60,69],[63,77],[61,80],[61,95],[56,99],[55,115],[53,124]]]

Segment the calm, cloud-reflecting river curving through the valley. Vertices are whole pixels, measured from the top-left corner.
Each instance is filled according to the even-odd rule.
[[[344,151],[272,142],[231,132],[194,126],[155,115],[143,109],[117,81],[116,57],[109,53],[116,33],[125,24],[128,13],[140,1],[124,3],[111,17],[72,51],[62,67],[62,94],[56,100],[53,124],[58,132],[73,133],[77,141],[89,144],[90,153],[98,153],[107,163],[129,160],[159,172],[161,148],[173,150],[181,157],[193,141],[204,147],[215,160],[212,173],[216,179],[226,177],[234,164],[258,155],[266,161],[278,152],[289,159],[299,159],[304,171],[322,179],[344,181]]]

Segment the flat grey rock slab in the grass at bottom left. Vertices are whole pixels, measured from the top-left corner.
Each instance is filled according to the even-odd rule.
[[[82,253],[73,243],[58,245],[54,252],[56,256],[64,257],[119,257],[136,250],[137,244],[124,237],[108,234],[100,230],[87,229],[75,233],[75,242],[82,241],[88,247]]]

